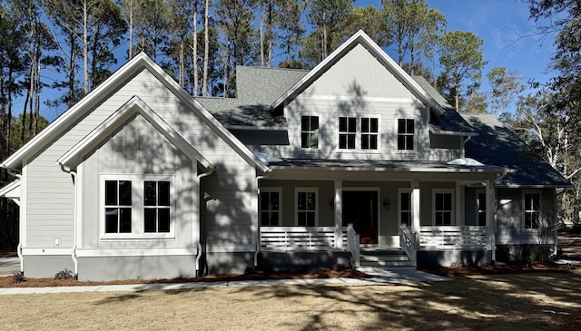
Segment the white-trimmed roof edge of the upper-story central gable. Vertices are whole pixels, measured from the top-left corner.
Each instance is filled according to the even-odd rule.
[[[381,63],[390,73],[392,73],[400,83],[409,89],[420,101],[425,102],[430,110],[436,115],[444,113],[444,110],[436,102],[428,92],[424,91],[416,81],[414,81],[408,73],[406,73],[397,63],[395,63],[388,54],[383,52],[378,44],[375,44],[369,35],[359,30],[353,34],[347,42],[340,45],[333,53],[325,58],[321,63],[315,66],[309,73],[302,77],[297,83],[292,85],[291,89],[282,94],[276,101],[271,104],[271,112],[279,109],[282,105],[290,102],[297,97],[300,92],[303,92],[310,84],[314,83],[323,73],[327,72],[331,66],[339,62],[340,59],[350,52],[356,45],[361,44],[370,54],[375,56],[379,63]]]

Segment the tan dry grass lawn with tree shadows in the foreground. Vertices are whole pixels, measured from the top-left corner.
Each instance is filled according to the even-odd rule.
[[[579,329],[581,277],[0,296],[3,329]]]

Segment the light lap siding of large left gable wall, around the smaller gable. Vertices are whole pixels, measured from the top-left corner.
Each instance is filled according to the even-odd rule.
[[[62,239],[61,246],[72,247],[74,241],[74,184],[71,176],[63,172],[56,160],[84,136],[116,112],[134,95],[156,112],[164,122],[172,126],[182,138],[189,141],[208,161],[216,166],[215,180],[202,180],[202,190],[223,205],[239,206],[237,209],[213,209],[202,215],[202,221],[209,238],[219,237],[218,241],[235,244],[239,239],[251,239],[252,215],[251,180],[255,170],[218,133],[209,129],[201,116],[182,104],[163,83],[152,73],[143,70],[111,95],[104,96],[103,102],[94,109],[85,111],[85,115],[62,136],[49,144],[44,151],[28,161],[26,185],[28,200],[27,246],[54,247],[54,238]],[[207,183],[204,184],[204,180]],[[42,194],[45,190],[50,194]],[[201,200],[203,200],[201,191]],[[255,194],[255,193],[254,193]],[[98,204],[98,201],[94,202]],[[53,208],[53,206],[58,206]],[[223,227],[215,224],[231,224],[232,231],[223,232]],[[210,239],[209,239],[210,240]]]

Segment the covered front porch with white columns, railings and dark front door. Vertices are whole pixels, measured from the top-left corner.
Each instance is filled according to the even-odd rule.
[[[259,183],[260,252],[348,252],[355,267],[369,251],[405,252],[413,266],[419,252],[487,252],[495,260],[494,182],[506,169],[271,167]]]

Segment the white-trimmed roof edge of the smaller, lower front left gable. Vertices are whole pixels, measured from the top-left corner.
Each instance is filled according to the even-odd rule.
[[[171,141],[175,147],[190,157],[190,159],[200,162],[205,169],[212,167],[210,161],[206,160],[200,152],[196,151],[188,141],[185,141],[178,132],[174,131],[168,123],[164,122],[156,112],[153,112],[137,96],[133,96],[117,112],[113,112],[94,131],[91,131],[82,141],[79,141],[72,149],[64,153],[57,162],[63,166],[76,167],[83,161],[85,155],[96,150],[104,139],[111,137],[114,131],[137,113],[141,114],[147,122],[150,122],[157,131],[160,131],[167,140]]]

